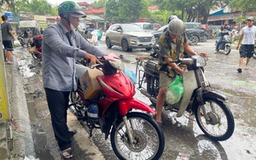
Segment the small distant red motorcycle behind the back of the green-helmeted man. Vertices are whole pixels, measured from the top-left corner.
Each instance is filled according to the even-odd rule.
[[[32,37],[32,41],[30,42],[30,45],[33,49],[30,49],[29,52],[32,54],[32,57],[35,60],[42,60],[42,40],[43,40],[43,35],[37,35]]]

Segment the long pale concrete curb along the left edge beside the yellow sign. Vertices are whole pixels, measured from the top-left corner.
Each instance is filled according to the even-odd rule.
[[[26,95],[23,89],[22,77],[20,75],[18,62],[13,58],[14,65],[5,66],[6,77],[9,80],[9,111],[13,130],[10,131],[9,146],[11,159],[22,159],[27,156],[35,156],[35,148],[32,141],[32,129],[30,117],[26,105]],[[13,118],[12,118],[13,117]],[[20,130],[19,130],[20,129]],[[15,156],[15,157],[14,157]]]

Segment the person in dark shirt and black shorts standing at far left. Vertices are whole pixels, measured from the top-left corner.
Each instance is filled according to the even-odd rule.
[[[7,61],[7,64],[12,65],[11,58],[13,56],[14,52],[14,43],[15,40],[13,28],[8,22],[8,16],[2,15],[3,23],[1,24],[1,30],[2,30],[2,39],[3,39],[3,46],[5,49],[5,61]]]

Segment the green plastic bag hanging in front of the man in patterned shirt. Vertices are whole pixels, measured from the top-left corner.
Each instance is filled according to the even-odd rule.
[[[177,103],[182,97],[184,93],[183,88],[183,77],[177,75],[177,77],[172,81],[169,85],[169,89],[166,93],[166,103],[167,105],[173,105]]]

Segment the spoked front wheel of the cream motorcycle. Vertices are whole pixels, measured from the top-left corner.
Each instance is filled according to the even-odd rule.
[[[234,117],[224,102],[207,98],[204,105],[210,120],[204,116],[202,106],[196,106],[195,119],[200,129],[212,140],[228,140],[234,132]]]

